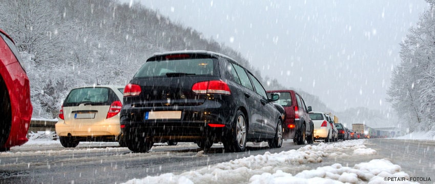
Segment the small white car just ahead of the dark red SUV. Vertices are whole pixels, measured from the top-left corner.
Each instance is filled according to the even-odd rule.
[[[333,140],[332,126],[329,124],[326,115],[323,112],[309,112],[308,114],[314,122],[314,138],[316,140],[325,140],[325,142]]]

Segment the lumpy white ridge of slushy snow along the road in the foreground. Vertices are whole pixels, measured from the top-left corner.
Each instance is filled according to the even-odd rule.
[[[290,174],[295,167],[322,162],[326,157],[363,156],[376,154],[364,146],[364,140],[350,140],[317,146],[307,145],[298,150],[250,156],[215,166],[159,176],[132,179],[126,183],[384,183],[385,177],[406,177],[401,167],[385,159],[374,159],[354,167],[339,163]],[[206,156],[206,155],[204,155]],[[403,182],[401,182],[403,183]],[[405,181],[405,183],[410,183]]]

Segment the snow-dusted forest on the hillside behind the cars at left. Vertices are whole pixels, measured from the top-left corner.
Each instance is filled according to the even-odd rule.
[[[262,76],[239,52],[138,3],[1,2],[0,27],[14,39],[30,78],[33,118],[56,118],[72,88],[126,85],[144,60],[164,51],[222,53],[250,69],[266,89],[291,88]],[[327,110],[317,96],[299,92],[314,109]]]

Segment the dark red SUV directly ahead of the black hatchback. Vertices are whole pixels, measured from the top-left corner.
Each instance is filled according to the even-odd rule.
[[[285,110],[284,139],[293,139],[297,145],[305,144],[305,140],[308,144],[313,144],[314,123],[308,114],[312,107],[307,108],[302,96],[294,90],[272,90],[267,93],[280,96],[276,103]]]

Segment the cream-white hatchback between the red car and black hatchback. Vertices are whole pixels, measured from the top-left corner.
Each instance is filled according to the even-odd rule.
[[[80,141],[118,141],[124,147],[119,126],[123,90],[111,85],[72,89],[55,124],[60,144],[74,148]]]

